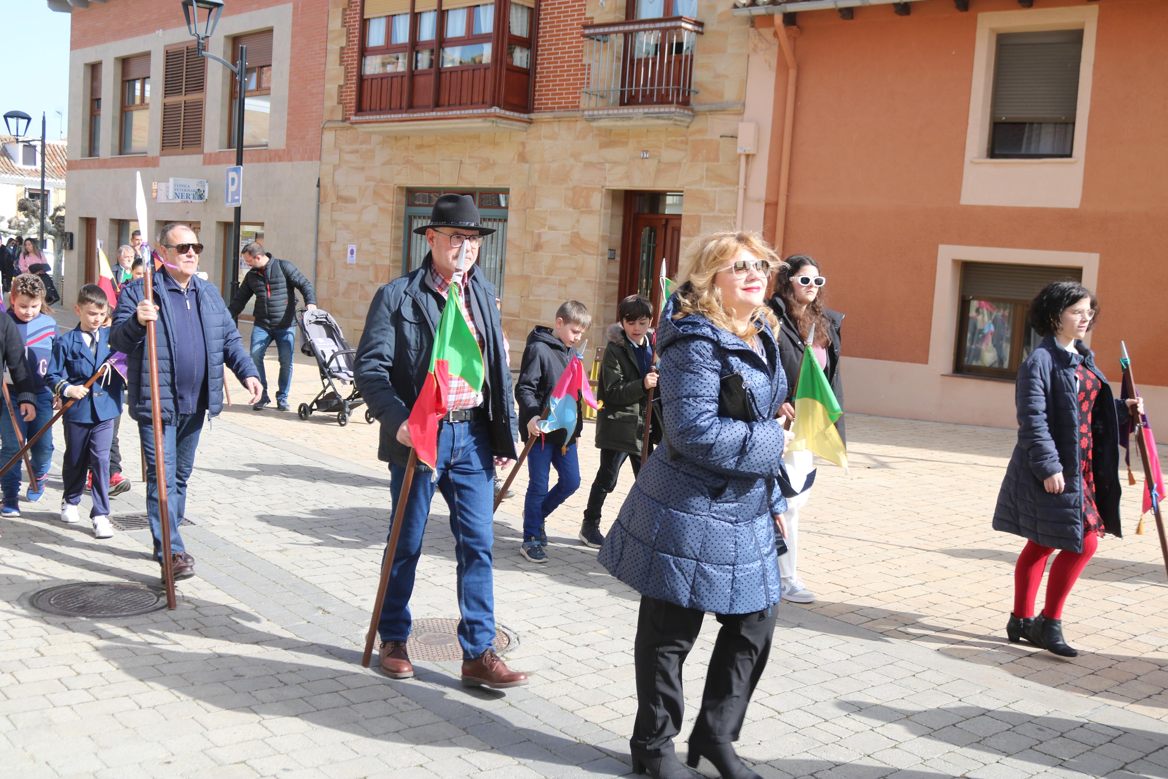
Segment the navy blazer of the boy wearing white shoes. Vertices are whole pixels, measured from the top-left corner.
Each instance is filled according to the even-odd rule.
[[[86,346],[81,325],[64,335],[58,335],[53,343],[53,357],[44,374],[44,383],[53,389],[54,395],[61,395],[69,384],[84,385],[89,377],[97,373],[103,362],[110,359],[110,328],[97,328],[97,354]],[[65,411],[65,422],[91,425],[121,416],[121,390],[125,381],[121,374],[112,368],[105,376],[93,382],[89,395],[75,401]],[[62,396],[62,402],[69,398]]]

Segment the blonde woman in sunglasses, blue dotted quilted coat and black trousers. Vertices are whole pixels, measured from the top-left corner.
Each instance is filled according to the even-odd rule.
[[[691,777],[674,754],[681,669],[705,612],[722,624],[689,738],[723,777],[757,777],[734,751],[766,666],[781,594],[771,501],[787,433],[778,322],[765,304],[778,256],[749,232],[695,239],[689,280],[656,333],[665,446],[641,468],[600,549],[600,563],[641,593],[633,770]],[[770,503],[770,505],[769,505]]]

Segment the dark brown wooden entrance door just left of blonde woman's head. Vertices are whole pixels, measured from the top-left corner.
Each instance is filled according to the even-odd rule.
[[[665,263],[666,276],[676,280],[681,250],[681,193],[625,193],[621,235],[620,299],[644,294],[660,305],[658,278]]]

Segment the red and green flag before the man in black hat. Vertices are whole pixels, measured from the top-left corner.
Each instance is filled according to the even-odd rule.
[[[431,468],[438,462],[438,422],[446,416],[451,376],[460,376],[475,392],[482,391],[482,350],[463,315],[461,294],[458,283],[452,283],[430,353],[430,373],[410,411],[413,450]]]

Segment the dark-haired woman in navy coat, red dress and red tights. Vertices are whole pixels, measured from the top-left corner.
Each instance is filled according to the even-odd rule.
[[[1011,644],[1028,641],[1064,658],[1063,605],[1099,537],[1122,535],[1119,522],[1119,417],[1142,413],[1140,399],[1117,401],[1083,336],[1099,305],[1076,281],[1055,281],[1030,304],[1030,326],[1044,336],[1018,368],[1018,443],[1006,470],[994,529],[1027,538],[1014,566]],[[1047,559],[1047,601],[1035,600]]]

